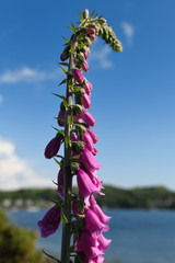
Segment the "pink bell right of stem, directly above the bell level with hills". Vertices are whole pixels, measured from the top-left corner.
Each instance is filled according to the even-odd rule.
[[[82,149],[82,155],[80,157],[80,161],[82,161],[86,171],[90,173],[96,172],[102,167],[92,155],[92,152],[88,148]]]

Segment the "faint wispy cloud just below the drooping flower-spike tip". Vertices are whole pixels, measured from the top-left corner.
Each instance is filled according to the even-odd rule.
[[[101,68],[110,68],[113,66],[113,62],[108,59],[108,54],[112,52],[112,49],[107,46],[102,47],[101,49],[93,49],[90,54],[90,61],[95,62],[97,67]]]

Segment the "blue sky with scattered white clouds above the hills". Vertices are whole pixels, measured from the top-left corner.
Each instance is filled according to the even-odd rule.
[[[55,136],[67,26],[94,9],[124,53],[101,39],[89,58],[91,113],[104,183],[175,190],[175,2],[173,0],[12,1],[0,8],[0,190],[50,186],[58,167],[44,158]]]

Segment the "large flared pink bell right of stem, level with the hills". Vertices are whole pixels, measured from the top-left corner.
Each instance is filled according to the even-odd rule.
[[[84,203],[89,205],[90,195],[100,193],[100,190],[92,183],[90,176],[81,168],[77,170],[77,181],[79,194],[84,197]]]

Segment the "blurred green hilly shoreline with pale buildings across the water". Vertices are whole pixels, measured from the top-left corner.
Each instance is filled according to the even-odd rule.
[[[105,186],[105,195],[96,195],[97,203],[104,208],[135,209],[174,209],[175,192],[163,186],[137,187],[125,190],[110,185]],[[74,192],[78,190],[74,187]],[[57,199],[56,188],[25,188],[1,191],[0,208],[45,209]]]

